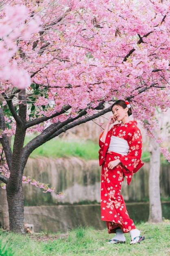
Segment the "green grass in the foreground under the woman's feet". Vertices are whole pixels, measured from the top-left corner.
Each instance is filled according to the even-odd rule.
[[[126,255],[126,256],[164,256],[170,251],[170,221],[150,224],[140,222],[136,228],[141,230],[145,240],[140,244],[130,245],[130,233],[125,233],[125,244],[107,244],[115,234],[108,234],[107,229],[95,230],[92,227],[79,226],[66,234],[20,235],[0,231],[0,245],[6,247],[1,256],[85,256],[85,255]],[[55,237],[54,237],[55,236]],[[53,240],[50,238],[54,238]],[[11,254],[12,253],[12,254]]]

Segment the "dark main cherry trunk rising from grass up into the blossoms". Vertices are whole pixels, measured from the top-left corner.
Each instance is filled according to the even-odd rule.
[[[26,92],[21,90],[18,95],[20,101],[19,113],[15,113],[16,132],[13,143],[12,164],[9,182],[7,182],[7,200],[9,207],[9,226],[11,231],[25,233],[24,230],[24,196],[22,192],[22,175],[24,169],[21,168],[22,151],[26,134]],[[9,101],[10,102],[10,101]],[[13,114],[12,102],[11,113]]]

